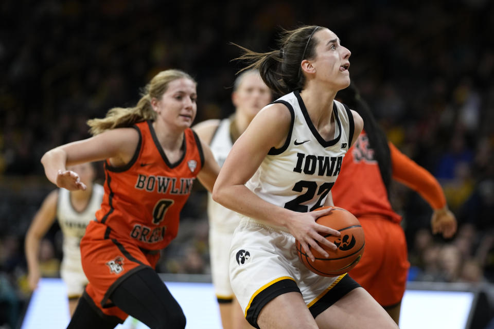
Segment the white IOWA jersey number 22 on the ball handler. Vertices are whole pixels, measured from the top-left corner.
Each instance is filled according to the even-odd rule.
[[[315,210],[324,205],[340,173],[354,133],[354,119],[346,105],[334,101],[334,138],[324,140],[298,91],[274,103],[285,104],[290,110],[291,129],[283,147],[269,151],[246,187],[274,205],[298,212]]]

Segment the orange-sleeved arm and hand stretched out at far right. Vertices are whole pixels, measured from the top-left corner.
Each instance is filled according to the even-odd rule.
[[[457,228],[456,218],[448,209],[443,189],[437,179],[401,153],[391,142],[389,145],[393,178],[419,193],[429,203],[434,210],[431,218],[433,233],[442,233],[446,238],[453,236]]]

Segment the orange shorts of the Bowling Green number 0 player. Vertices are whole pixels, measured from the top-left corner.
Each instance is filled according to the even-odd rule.
[[[136,271],[146,267],[154,269],[160,253],[143,251],[131,239],[117,237],[108,226],[93,221],[87,225],[81,240],[81,258],[89,280],[85,289],[87,295],[103,315],[123,322],[128,314],[112,303],[111,294]]]

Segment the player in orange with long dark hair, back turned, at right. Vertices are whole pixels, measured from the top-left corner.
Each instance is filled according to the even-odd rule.
[[[438,181],[387,141],[355,86],[341,90],[337,99],[357,111],[365,127],[345,156],[340,177],[332,189],[334,204],[354,214],[364,229],[365,252],[349,274],[398,323],[410,264],[401,216],[391,208],[388,198],[391,180],[401,182],[427,200],[434,209],[434,233],[442,233],[446,238],[453,236],[456,220],[448,210]]]

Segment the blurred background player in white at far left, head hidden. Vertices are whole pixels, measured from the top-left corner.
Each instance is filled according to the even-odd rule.
[[[55,218],[63,234],[63,258],[60,276],[67,286],[68,306],[70,315],[82,296],[87,284],[82,270],[79,242],[86,230],[86,225],[94,220],[95,212],[101,206],[103,187],[93,183],[95,170],[92,163],[81,163],[68,170],[79,173],[81,181],[87,186],[86,190],[68,191],[57,189],[50,192],[43,201],[41,208],[34,215],[27,231],[25,251],[28,265],[28,283],[35,289],[40,280],[38,252],[40,241]]]

